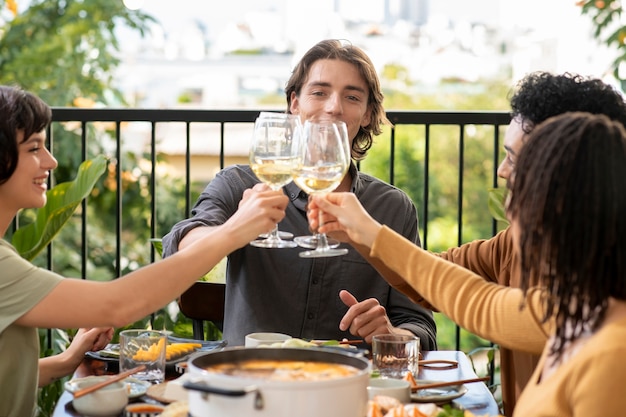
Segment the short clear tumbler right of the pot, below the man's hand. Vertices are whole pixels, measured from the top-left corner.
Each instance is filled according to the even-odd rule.
[[[417,336],[383,334],[372,338],[372,365],[382,378],[414,377],[419,371],[420,340]]]

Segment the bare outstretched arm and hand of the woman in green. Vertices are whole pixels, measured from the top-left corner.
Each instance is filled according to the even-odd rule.
[[[18,319],[33,327],[121,327],[158,310],[285,215],[287,197],[258,193],[223,225],[159,262],[111,282],[66,279]],[[50,315],[49,311],[57,314]]]

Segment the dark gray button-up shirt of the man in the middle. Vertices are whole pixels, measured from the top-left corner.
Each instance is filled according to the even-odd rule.
[[[392,185],[360,173],[353,166],[352,189],[367,212],[419,244],[417,212],[408,196]],[[220,171],[200,195],[192,217],[177,223],[163,237],[163,254],[178,250],[178,243],[193,228],[226,222],[237,211],[244,190],[259,180],[247,165]],[[309,235],[308,196],[293,182],[283,188],[290,199],[280,230]],[[228,239],[228,236],[224,236]],[[375,297],[385,307],[391,324],[420,338],[423,350],[436,349],[432,312],[412,303],[391,288],[350,245],[344,256],[305,259],[304,249],[266,249],[246,245],[228,257],[224,339],[243,345],[248,333],[271,331],[306,339],[354,339],[339,330],[348,307],[339,298],[342,289],[359,301]]]

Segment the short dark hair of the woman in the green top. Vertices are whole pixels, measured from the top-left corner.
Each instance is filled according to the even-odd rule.
[[[47,128],[51,120],[50,107],[39,97],[0,85],[0,184],[11,178],[17,167],[17,131],[24,132],[26,141]]]

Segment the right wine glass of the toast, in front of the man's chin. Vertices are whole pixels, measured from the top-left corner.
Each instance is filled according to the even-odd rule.
[[[346,124],[336,120],[307,120],[302,128],[301,141],[300,166],[294,176],[294,182],[308,194],[333,191],[339,186],[350,166],[350,145]],[[326,234],[317,233],[315,238],[317,240],[315,250],[301,252],[301,257],[320,258],[348,253],[345,248],[331,247]]]

